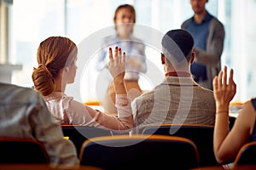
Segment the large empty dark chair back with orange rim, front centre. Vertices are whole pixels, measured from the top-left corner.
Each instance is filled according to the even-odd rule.
[[[195,144],[164,135],[96,137],[82,145],[81,165],[103,169],[190,169],[199,166]]]

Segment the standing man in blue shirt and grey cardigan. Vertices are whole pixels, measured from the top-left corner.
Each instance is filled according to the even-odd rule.
[[[190,0],[194,16],[185,20],[181,27],[195,39],[195,62],[191,65],[195,82],[212,90],[212,79],[221,70],[224,26],[208,13],[206,3],[208,0]]]

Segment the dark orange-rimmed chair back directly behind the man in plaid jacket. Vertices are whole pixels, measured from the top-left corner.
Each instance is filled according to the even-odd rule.
[[[213,151],[213,126],[201,124],[160,124],[151,125],[143,130],[143,134],[161,134],[191,139],[200,156],[200,166],[215,166],[218,161]]]

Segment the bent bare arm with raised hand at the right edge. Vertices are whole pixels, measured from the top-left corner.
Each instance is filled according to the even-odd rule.
[[[224,66],[224,71],[220,71],[218,77],[214,77],[212,85],[216,100],[216,121],[213,135],[214,154],[218,163],[229,164],[235,161],[242,145],[256,141],[256,99],[247,100],[230,130],[229,105],[236,94],[233,70],[230,70],[229,82],[227,82],[227,67]]]

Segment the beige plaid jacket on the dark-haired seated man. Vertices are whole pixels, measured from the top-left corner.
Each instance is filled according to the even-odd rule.
[[[131,103],[135,128],[142,133],[150,124],[214,125],[215,100],[212,90],[202,88],[192,77],[166,77],[153,90]]]

